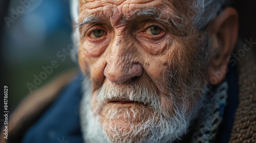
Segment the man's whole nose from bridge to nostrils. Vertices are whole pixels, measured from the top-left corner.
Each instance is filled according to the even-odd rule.
[[[131,41],[122,41],[126,36],[116,35],[113,44],[106,51],[104,76],[113,83],[124,83],[142,75],[140,53]]]

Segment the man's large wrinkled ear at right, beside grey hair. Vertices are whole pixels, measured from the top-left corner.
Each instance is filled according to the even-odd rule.
[[[229,58],[237,41],[238,18],[235,9],[226,8],[206,29],[211,40],[208,76],[212,85],[220,84],[225,78]]]

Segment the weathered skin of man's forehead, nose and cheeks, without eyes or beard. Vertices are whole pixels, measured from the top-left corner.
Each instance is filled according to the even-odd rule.
[[[134,14],[135,10],[151,7],[159,8],[165,19]],[[188,17],[183,17],[183,21],[175,18],[174,13],[177,12],[172,1],[80,1],[78,21],[92,14],[102,20],[79,29],[79,64],[85,74],[90,73],[93,105],[96,106],[96,92],[103,84],[112,82],[121,87],[131,80],[156,90],[166,111],[172,112],[167,83],[169,73],[177,71],[177,77],[191,76],[194,55],[198,53],[195,39],[200,39],[195,28],[185,23],[189,21],[186,20]],[[170,20],[166,20],[169,17],[177,23],[183,22],[187,33],[182,33]],[[162,31],[158,35],[150,35],[146,33],[150,27],[159,27]],[[97,29],[102,29],[105,34],[93,37],[92,31]],[[101,120],[104,121],[104,115]]]

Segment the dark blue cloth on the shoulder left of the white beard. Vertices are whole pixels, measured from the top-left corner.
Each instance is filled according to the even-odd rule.
[[[80,131],[79,104],[82,75],[61,90],[55,102],[24,135],[23,143],[83,142]]]

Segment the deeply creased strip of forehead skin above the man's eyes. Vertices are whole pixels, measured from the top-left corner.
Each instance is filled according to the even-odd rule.
[[[151,10],[148,10],[151,9]],[[109,18],[132,19],[137,13],[146,14],[147,16],[159,15],[161,13],[171,13],[175,9],[169,1],[93,1],[86,3],[80,2],[80,18],[89,15],[101,15]],[[82,19],[79,19],[81,21]]]

